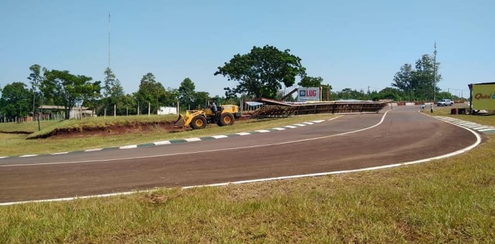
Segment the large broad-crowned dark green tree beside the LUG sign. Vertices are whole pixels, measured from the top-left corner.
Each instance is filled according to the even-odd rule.
[[[238,81],[235,88],[225,88],[226,96],[247,93],[256,98],[274,98],[282,85],[289,87],[296,76],[304,76],[301,58],[290,50],[283,52],[276,47],[252,47],[248,54],[235,54],[231,61],[218,67],[214,75],[227,76],[229,81]]]

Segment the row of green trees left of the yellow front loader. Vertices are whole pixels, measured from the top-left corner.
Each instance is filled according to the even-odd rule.
[[[77,106],[90,108],[95,115],[136,115],[140,111],[147,113],[148,109],[156,114],[161,106],[179,103],[182,108],[197,108],[209,98],[209,93],[195,91],[189,78],[184,79],[179,88],[165,88],[150,72],[141,78],[138,91],[126,94],[110,68],[105,69],[103,81],[93,81],[89,76],[71,74],[66,70],[49,70],[39,64],[29,69],[30,87],[16,81],[0,88],[1,117],[32,116],[40,112],[40,105],[64,107],[66,119]]]

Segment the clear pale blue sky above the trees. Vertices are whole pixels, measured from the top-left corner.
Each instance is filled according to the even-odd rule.
[[[189,77],[224,95],[218,66],[253,46],[301,57],[334,91],[381,90],[422,54],[441,63],[443,90],[495,81],[495,1],[0,1],[0,86],[28,83],[29,66],[103,80],[108,63],[133,93],[152,72],[163,86]]]

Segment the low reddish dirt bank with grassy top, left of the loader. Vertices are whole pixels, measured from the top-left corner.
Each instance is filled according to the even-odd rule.
[[[126,124],[107,124],[103,126],[81,126],[58,128],[47,134],[30,136],[29,139],[64,139],[78,136],[108,136],[134,132],[181,132],[184,128],[175,127],[173,122],[129,122]]]

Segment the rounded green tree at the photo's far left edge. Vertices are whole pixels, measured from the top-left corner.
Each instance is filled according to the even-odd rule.
[[[13,82],[1,89],[0,112],[4,117],[26,117],[30,110],[32,93],[25,83]]]

